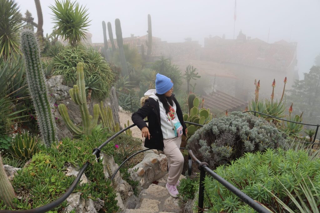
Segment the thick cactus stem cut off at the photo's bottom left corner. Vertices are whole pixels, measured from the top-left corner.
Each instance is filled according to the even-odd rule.
[[[3,200],[5,205],[14,208],[12,201],[15,197],[16,195],[14,193],[14,189],[4,171],[2,158],[0,155],[0,200]]]

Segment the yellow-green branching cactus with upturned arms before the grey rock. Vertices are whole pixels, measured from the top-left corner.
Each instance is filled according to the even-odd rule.
[[[59,112],[66,122],[68,128],[76,134],[85,134],[90,135],[92,133],[92,129],[97,126],[100,107],[98,104],[93,106],[93,118],[89,114],[89,110],[87,107],[87,101],[85,97],[85,84],[84,84],[84,72],[83,72],[83,63],[79,62],[77,64],[77,84],[73,85],[73,88],[69,90],[69,94],[71,99],[80,106],[80,113],[82,118],[82,130],[74,125],[69,118],[69,114],[67,111],[66,105],[63,103],[59,104]]]

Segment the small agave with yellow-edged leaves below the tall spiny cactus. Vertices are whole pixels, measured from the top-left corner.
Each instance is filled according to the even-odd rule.
[[[38,153],[38,141],[39,138],[35,135],[31,135],[28,132],[18,133],[9,147],[11,154],[20,159],[31,159],[31,157]]]

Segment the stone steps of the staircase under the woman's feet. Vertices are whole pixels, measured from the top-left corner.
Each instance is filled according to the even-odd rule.
[[[138,197],[139,202],[135,209],[124,209],[123,213],[154,213],[154,212],[184,212],[184,208],[178,204],[179,199],[170,196],[165,188],[168,173],[155,181],[147,189],[143,189]],[[179,179],[185,178],[181,175]]]

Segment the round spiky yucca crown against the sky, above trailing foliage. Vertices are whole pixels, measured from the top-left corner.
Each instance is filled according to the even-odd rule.
[[[68,40],[71,46],[76,46],[78,42],[85,39],[85,32],[90,26],[88,9],[85,9],[79,3],[65,0],[59,2],[55,0],[55,6],[51,5],[49,8],[54,15],[54,28],[56,33],[61,35],[64,40]]]

